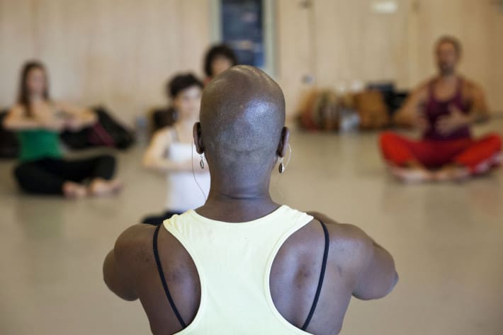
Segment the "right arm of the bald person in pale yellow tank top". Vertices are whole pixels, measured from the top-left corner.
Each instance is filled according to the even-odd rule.
[[[354,225],[341,225],[326,215],[310,212],[329,225],[331,242],[337,244],[337,263],[354,276],[353,295],[361,300],[388,295],[398,282],[395,261],[388,251]]]

